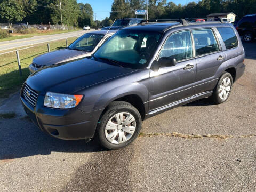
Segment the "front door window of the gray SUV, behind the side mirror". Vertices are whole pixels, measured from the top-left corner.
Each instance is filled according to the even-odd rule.
[[[160,52],[161,57],[174,57],[177,61],[193,57],[190,32],[182,31],[168,37]]]

